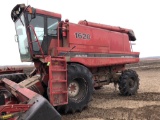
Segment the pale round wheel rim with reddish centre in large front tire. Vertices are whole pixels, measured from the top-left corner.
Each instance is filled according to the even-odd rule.
[[[68,95],[69,97],[75,97],[79,93],[79,84],[76,81],[73,81],[68,86]]]

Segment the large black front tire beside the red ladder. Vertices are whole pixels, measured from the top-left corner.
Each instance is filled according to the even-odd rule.
[[[79,91],[75,96],[71,96],[72,92],[70,93],[69,90],[72,89],[71,87],[73,87],[75,83],[79,85]],[[91,100],[92,93],[93,80],[91,72],[82,65],[70,64],[68,65],[68,104],[58,106],[57,110],[60,113],[74,113],[76,111],[82,111]]]

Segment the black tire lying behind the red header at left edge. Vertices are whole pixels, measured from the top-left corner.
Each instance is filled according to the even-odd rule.
[[[7,78],[13,82],[19,83],[27,79],[27,75],[24,73],[3,74],[3,75],[0,75],[0,80],[2,78]]]

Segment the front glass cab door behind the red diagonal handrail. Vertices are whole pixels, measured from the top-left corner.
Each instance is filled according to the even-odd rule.
[[[28,21],[29,25],[33,26],[34,31],[30,28],[30,38],[32,41],[32,50],[34,55],[41,55],[40,48],[42,48],[44,55],[47,55],[48,50],[48,42],[47,42],[47,31],[46,31],[46,18],[43,15],[36,14],[36,17],[34,19],[31,19],[31,15],[28,14]],[[38,38],[38,41],[40,43],[40,46],[38,45],[38,42],[36,41],[36,36]]]

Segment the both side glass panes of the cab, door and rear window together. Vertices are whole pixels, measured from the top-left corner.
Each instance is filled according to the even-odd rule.
[[[28,20],[31,20],[30,14],[28,14]],[[40,47],[42,48],[44,55],[48,54],[48,48],[50,46],[51,40],[57,40],[57,27],[59,21],[60,18],[36,14],[36,17],[29,22],[29,24],[34,27],[36,36],[38,38]],[[36,40],[36,37],[32,30],[30,30],[30,32],[31,40],[33,42]],[[42,54],[37,42],[33,42],[32,47],[34,55]]]

